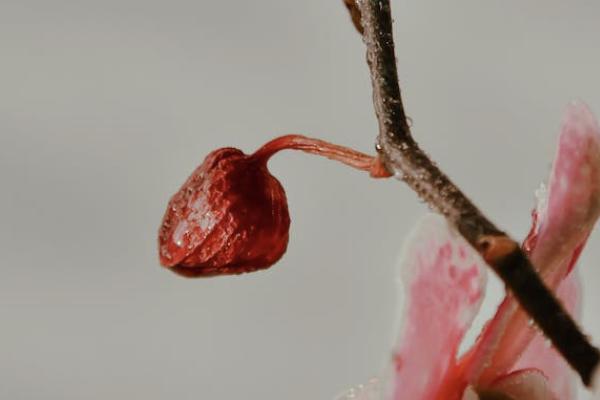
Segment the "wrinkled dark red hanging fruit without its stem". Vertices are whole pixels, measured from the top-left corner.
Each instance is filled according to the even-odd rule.
[[[268,268],[285,253],[289,226],[285,191],[266,160],[218,149],[171,198],[160,263],[187,277]]]

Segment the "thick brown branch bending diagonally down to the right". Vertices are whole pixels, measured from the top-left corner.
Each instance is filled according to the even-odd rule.
[[[598,349],[544,285],[517,242],[494,226],[413,140],[400,96],[389,0],[357,4],[379,122],[377,149],[385,166],[456,226],[589,386],[600,362]]]

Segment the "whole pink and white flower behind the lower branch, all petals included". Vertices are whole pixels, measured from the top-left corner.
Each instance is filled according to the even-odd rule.
[[[599,213],[600,128],[585,105],[572,104],[523,248],[575,315],[580,290],[572,270]],[[405,312],[382,389],[386,399],[574,398],[570,367],[510,294],[472,348],[458,356],[484,296],[486,271],[441,217],[427,217],[416,227],[401,262]],[[375,398],[375,389],[369,390],[353,398]]]

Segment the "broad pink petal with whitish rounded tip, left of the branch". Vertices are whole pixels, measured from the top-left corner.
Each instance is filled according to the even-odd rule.
[[[404,321],[393,356],[393,399],[459,399],[462,388],[437,397],[458,346],[479,310],[486,267],[445,220],[426,217],[409,237],[401,261]]]

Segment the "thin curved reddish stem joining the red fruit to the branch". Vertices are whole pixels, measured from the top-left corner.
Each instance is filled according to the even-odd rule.
[[[352,168],[367,171],[373,178],[387,178],[390,172],[383,166],[378,156],[370,156],[348,147],[339,146],[303,135],[285,135],[265,143],[252,157],[267,162],[280,150],[300,150],[305,153],[327,157]]]

